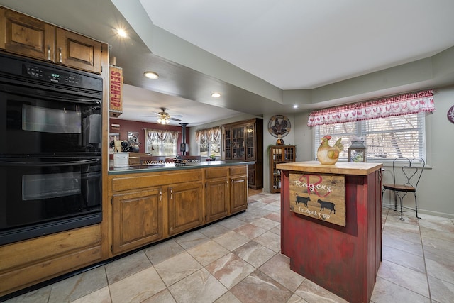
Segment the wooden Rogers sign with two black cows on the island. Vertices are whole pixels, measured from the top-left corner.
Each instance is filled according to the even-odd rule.
[[[290,211],[345,226],[345,176],[290,173]]]

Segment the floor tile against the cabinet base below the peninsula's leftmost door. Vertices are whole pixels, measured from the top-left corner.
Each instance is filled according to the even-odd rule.
[[[124,279],[125,277],[135,274],[135,272],[145,270],[150,266],[152,266],[150,260],[148,260],[143,250],[140,250],[138,253],[127,255],[124,258],[107,264],[105,266],[107,280],[110,285]]]

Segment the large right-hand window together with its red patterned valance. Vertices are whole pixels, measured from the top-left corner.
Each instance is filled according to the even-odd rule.
[[[353,137],[362,137],[368,160],[386,162],[399,156],[426,160],[426,113],[435,110],[433,91],[312,111],[307,125],[315,130],[315,154],[321,138],[343,138],[340,159],[347,160]],[[333,144],[331,143],[331,144]]]

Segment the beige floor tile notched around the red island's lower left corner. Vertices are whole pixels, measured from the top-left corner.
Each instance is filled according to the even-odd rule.
[[[304,281],[304,277],[290,270],[290,259],[285,255],[277,253],[265,264],[260,266],[259,270],[268,275],[273,280],[287,287],[294,292]]]

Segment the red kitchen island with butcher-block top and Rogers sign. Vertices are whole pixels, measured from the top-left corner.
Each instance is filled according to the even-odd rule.
[[[290,268],[348,302],[370,302],[382,257],[380,163],[281,170],[281,250]]]

